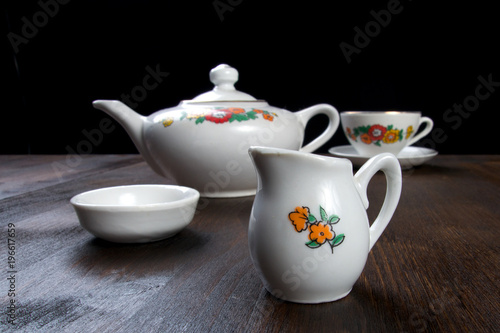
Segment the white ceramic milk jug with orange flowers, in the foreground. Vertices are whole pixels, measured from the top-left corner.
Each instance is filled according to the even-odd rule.
[[[297,303],[345,297],[389,223],[401,193],[394,155],[371,158],[354,176],[343,158],[252,147],[259,184],[249,224],[253,263],[266,289]],[[367,186],[387,178],[382,209],[369,225]]]

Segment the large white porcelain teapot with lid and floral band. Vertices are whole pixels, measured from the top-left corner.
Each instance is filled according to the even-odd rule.
[[[177,107],[141,116],[120,101],[94,101],[116,119],[158,174],[197,189],[205,197],[255,194],[251,145],[312,152],[326,143],[339,125],[337,110],[319,104],[299,112],[272,107],[237,91],[236,69],[219,65],[210,72],[215,88]],[[302,146],[307,122],[326,114],[329,124]]]

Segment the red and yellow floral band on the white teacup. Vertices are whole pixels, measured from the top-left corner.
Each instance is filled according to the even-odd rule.
[[[382,146],[382,144],[391,144],[396,143],[398,141],[402,141],[403,137],[408,140],[413,134],[413,126],[408,126],[406,129],[406,134],[402,129],[396,129],[393,125],[382,126],[379,124],[368,125],[368,126],[358,126],[354,129],[350,127],[346,128],[347,136],[353,140],[358,141],[358,138],[361,142],[369,145],[374,144],[377,146]]]

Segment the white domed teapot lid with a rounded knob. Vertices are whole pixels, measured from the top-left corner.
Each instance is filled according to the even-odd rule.
[[[213,68],[210,71],[210,81],[215,85],[214,89],[196,96],[191,101],[257,101],[253,96],[234,88],[238,81],[238,71],[229,65],[221,64]]]

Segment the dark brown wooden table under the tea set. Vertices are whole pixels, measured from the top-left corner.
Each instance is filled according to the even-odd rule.
[[[405,171],[351,294],[317,305],[263,288],[247,242],[253,197],[202,199],[186,229],[143,245],[94,238],[69,204],[90,189],[169,182],[138,155],[0,156],[0,331],[500,330],[500,156],[438,156]],[[372,220],[384,190],[377,174]]]

